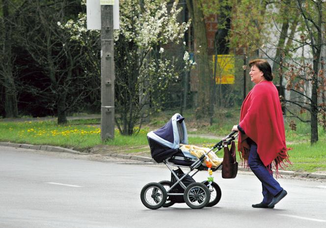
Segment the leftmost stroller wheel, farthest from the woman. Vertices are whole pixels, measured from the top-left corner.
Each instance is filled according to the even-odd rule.
[[[140,192],[140,200],[146,207],[150,209],[158,209],[166,201],[166,190],[160,183],[148,183]]]

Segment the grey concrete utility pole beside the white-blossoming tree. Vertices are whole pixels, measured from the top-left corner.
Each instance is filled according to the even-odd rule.
[[[113,6],[101,5],[101,138],[114,138]]]

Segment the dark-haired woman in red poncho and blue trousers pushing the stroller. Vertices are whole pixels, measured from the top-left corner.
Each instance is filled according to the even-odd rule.
[[[255,208],[273,208],[287,192],[273,178],[272,164],[276,168],[289,161],[285,143],[283,114],[278,92],[272,83],[272,68],[266,60],[249,62],[250,78],[256,85],[246,96],[240,113],[238,150],[242,159],[262,182],[263,201]]]

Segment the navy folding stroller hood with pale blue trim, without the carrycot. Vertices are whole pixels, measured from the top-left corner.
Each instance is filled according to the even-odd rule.
[[[148,133],[147,137],[168,148],[178,149],[180,143],[188,144],[188,134],[184,119],[182,115],[174,114],[162,128]]]

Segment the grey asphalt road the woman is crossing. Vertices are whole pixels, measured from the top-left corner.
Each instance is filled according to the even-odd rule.
[[[214,177],[222,190],[216,206],[150,210],[140,191],[148,182],[169,180],[162,165],[0,147],[0,227],[326,227],[325,181],[279,179],[288,195],[274,209],[256,209],[251,204],[261,201],[261,187],[250,172]],[[195,176],[206,178],[204,171]]]

